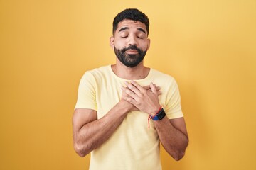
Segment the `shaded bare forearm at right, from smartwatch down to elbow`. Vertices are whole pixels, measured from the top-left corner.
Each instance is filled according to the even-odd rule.
[[[177,161],[181,159],[188,146],[188,135],[176,129],[167,117],[154,121],[154,125],[166,152]]]

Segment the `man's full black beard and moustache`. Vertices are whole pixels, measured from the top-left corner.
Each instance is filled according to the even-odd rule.
[[[127,50],[137,50],[138,54],[136,55],[130,55],[127,54]],[[130,45],[129,47],[124,47],[121,50],[117,50],[116,47],[114,47],[114,53],[117,56],[118,60],[122,62],[127,67],[136,67],[142,60],[144,59],[146,55],[146,51],[140,50],[135,45]]]

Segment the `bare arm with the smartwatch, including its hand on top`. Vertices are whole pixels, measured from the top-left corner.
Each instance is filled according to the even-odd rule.
[[[159,98],[155,86],[153,84],[150,86],[151,91],[145,91],[142,86],[132,81],[131,84],[127,84],[127,88],[123,88],[127,94],[124,96],[124,100],[132,103],[140,111],[149,113],[149,115],[155,115],[160,107]],[[154,125],[166,152],[176,160],[181,159],[188,145],[188,135],[184,119],[169,120],[167,117],[164,117],[162,120],[154,121]]]

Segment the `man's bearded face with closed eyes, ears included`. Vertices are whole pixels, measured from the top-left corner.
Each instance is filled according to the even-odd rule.
[[[144,59],[150,45],[145,24],[140,21],[121,21],[110,38],[110,45],[119,62],[127,67],[136,67]]]

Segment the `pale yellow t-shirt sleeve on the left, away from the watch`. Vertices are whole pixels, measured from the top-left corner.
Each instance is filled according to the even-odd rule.
[[[95,88],[95,78],[90,72],[85,72],[80,79],[80,84],[78,87],[78,100],[75,108],[90,108],[97,111]]]

